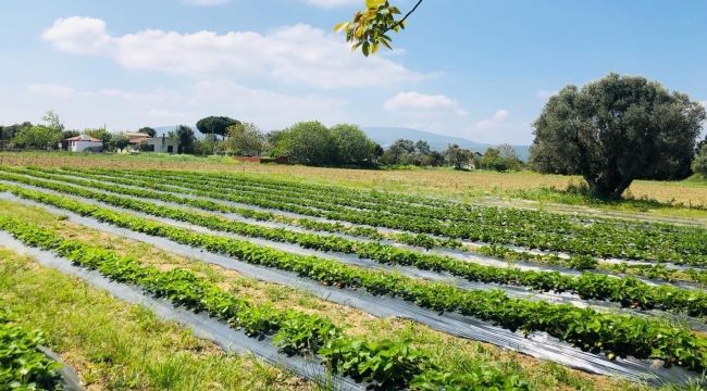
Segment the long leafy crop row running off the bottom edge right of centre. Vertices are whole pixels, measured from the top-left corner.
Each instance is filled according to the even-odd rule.
[[[434,358],[411,346],[409,340],[368,341],[346,337],[340,327],[326,318],[252,304],[246,298],[234,297],[189,270],[177,268],[160,272],[138,260],[73,239],[63,239],[47,229],[10,217],[0,216],[0,229],[27,245],[53,251],[112,280],[139,286],[156,297],[165,298],[194,312],[206,312],[234,328],[241,328],[253,338],[273,336],[273,342],[285,354],[318,354],[335,371],[381,388],[411,386],[417,389],[442,389],[454,383],[461,383],[464,388],[529,388],[518,378],[504,378],[483,367],[473,374],[444,373]]]

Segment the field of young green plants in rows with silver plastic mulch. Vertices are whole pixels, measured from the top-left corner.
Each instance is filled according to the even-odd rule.
[[[266,175],[0,166],[0,245],[301,379],[274,388],[707,386],[697,226]],[[57,341],[11,299],[0,390],[60,383],[36,349]]]

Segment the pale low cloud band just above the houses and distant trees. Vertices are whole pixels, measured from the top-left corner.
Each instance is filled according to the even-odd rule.
[[[53,108],[74,128],[102,126],[103,123],[114,130],[194,124],[214,114],[253,122],[265,130],[298,121],[319,119],[334,124],[347,119],[343,110],[347,102],[342,99],[285,94],[227,80],[199,81],[176,90],[79,90],[54,84],[33,84],[27,90],[30,96],[25,101],[16,100],[14,105],[37,113]]]

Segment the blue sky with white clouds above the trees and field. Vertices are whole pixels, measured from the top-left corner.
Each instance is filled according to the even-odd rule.
[[[707,104],[707,1],[424,0],[396,50],[369,59],[332,33],[362,4],[3,1],[0,124],[49,109],[79,129],[216,114],[264,130],[319,119],[530,143],[549,94],[609,72]]]

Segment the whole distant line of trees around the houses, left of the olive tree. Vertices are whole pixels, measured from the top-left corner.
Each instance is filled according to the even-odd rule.
[[[58,149],[61,140],[90,136],[102,142],[101,151],[115,152],[129,147],[127,133],[104,128],[65,130],[59,115],[48,112],[44,125],[30,123],[0,127],[0,141],[11,148]],[[315,166],[451,166],[456,169],[520,169],[523,163],[507,144],[489,148],[484,154],[451,144],[435,151],[424,140],[399,139],[383,148],[352,124],[326,127],[319,122],[299,122],[281,130],[263,133],[256,124],[227,116],[208,116],[197,122],[197,138],[186,125],[179,125],[164,137],[177,139],[177,153],[228,154],[239,156],[286,157],[293,164]],[[138,133],[157,137],[157,130],[142,127]]]

